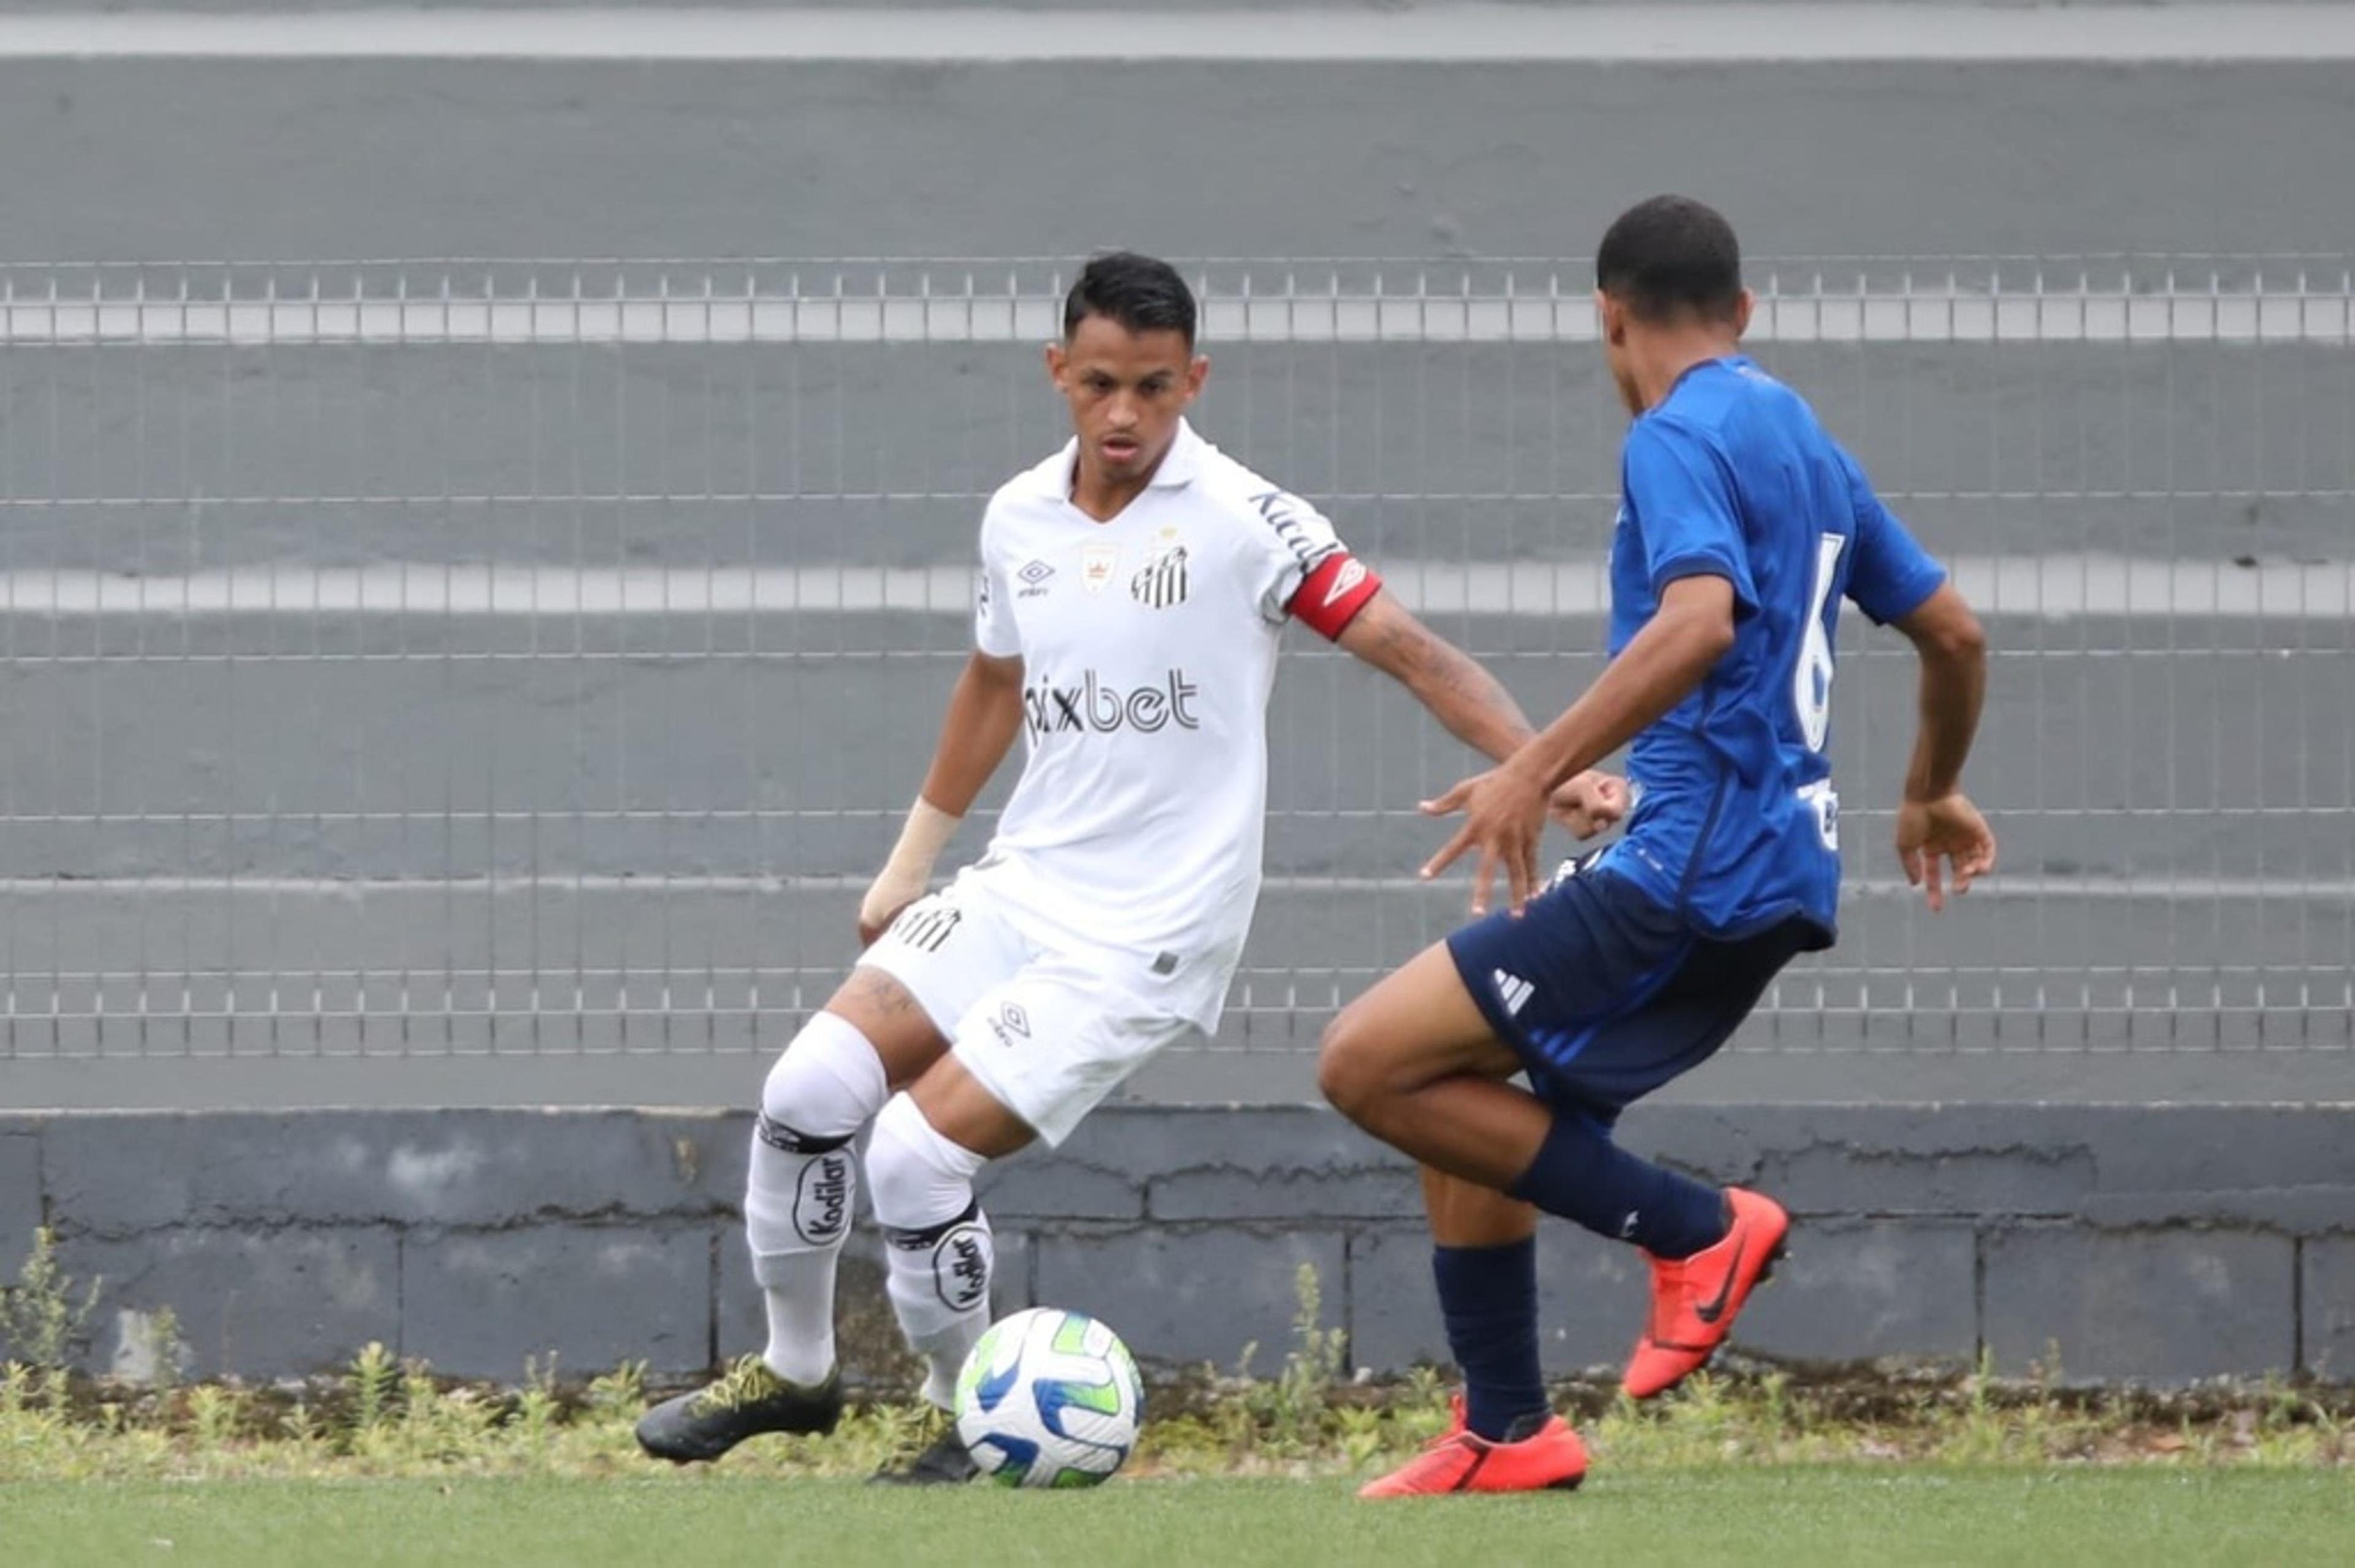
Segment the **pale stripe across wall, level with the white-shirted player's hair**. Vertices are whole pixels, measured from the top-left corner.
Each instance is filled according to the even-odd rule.
[[[2355,7],[2350,7],[2355,14]],[[2322,264],[2317,264],[2320,268]],[[1757,268],[1754,268],[1757,271]],[[702,292],[709,278],[711,294]],[[2308,273],[2306,290],[2289,290],[2296,266],[2268,273],[2273,292],[2235,285],[2225,292],[2181,285],[2127,292],[2089,283],[2049,292],[1990,294],[1973,283],[1924,275],[1908,290],[1858,285],[1853,271],[1754,275],[1759,308],[1745,341],[1766,344],[2355,344],[2355,285],[2346,268]],[[1043,344],[1060,332],[1062,301],[1039,294],[961,290],[963,273],[942,273],[940,290],[900,283],[897,294],[834,297],[812,278],[812,292],[749,292],[725,264],[699,273],[671,297],[452,297],[356,299],[73,299],[73,280],[52,297],[45,283],[0,278],[0,344],[122,344],[122,346],[273,346],[323,344],[504,344],[568,348],[612,344],[744,346],[744,344]],[[108,292],[137,290],[113,280]],[[219,285],[212,285],[219,287]],[[377,285],[384,287],[382,283]],[[424,287],[424,285],[419,285]],[[516,290],[520,285],[506,285]],[[871,287],[871,280],[869,280]],[[1201,332],[1218,344],[1592,344],[1594,304],[1583,287],[1554,292],[1547,273],[1531,273],[1514,294],[1484,283],[1460,292],[1446,271],[1418,273],[1406,292],[1375,297],[1324,292],[1305,271],[1283,294],[1253,299],[1208,294]],[[2108,287],[2108,292],[2103,292]]]

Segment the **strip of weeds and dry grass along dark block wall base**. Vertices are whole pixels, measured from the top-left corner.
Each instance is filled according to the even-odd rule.
[[[252,1389],[170,1389],[57,1380],[0,1368],[0,1483],[172,1479],[568,1479],[685,1483],[631,1441],[645,1408],[638,1368],[560,1384],[535,1368],[520,1387],[436,1377],[367,1347],[337,1377]],[[2339,1469],[2355,1464],[2355,1391],[2296,1384],[2190,1394],[2068,1391],[1971,1377],[1700,1375],[1653,1406],[1601,1382],[1554,1403],[1578,1420],[1597,1474],[1908,1464],[2167,1469]],[[1446,1382],[1194,1377],[1154,1391],[1161,1415],[1130,1460],[1135,1476],[1291,1476],[1333,1481],[1397,1462],[1446,1424]],[[829,1439],[749,1443],[723,1474],[853,1479],[921,1446],[935,1415],[869,1398]]]

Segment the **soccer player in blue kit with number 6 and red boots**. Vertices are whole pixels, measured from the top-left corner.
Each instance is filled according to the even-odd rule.
[[[1427,803],[1462,812],[1425,866],[1477,852],[1512,909],[1352,1003],[1319,1083],[1425,1165],[1458,1424],[1364,1495],[1575,1486],[1578,1434],[1538,1373],[1535,1212],[1651,1260],[1625,1389],[1700,1368],[1783,1250],[1790,1217],[1627,1154],[1618,1114],[1733,1034],[1776,972],[1832,944],[1839,798],[1827,756],[1839,600],[1919,655],[1896,848],[1931,909],[1995,866],[1959,789],[1985,692],[1969,605],[1806,403],[1740,353],[1752,297],[1733,228],[1660,195],[1594,259],[1601,341],[1634,424],[1611,539],[1611,664],[1543,735]],[[1627,779],[1590,772],[1632,742]],[[1547,800],[1625,836],[1538,888]],[[1528,1088],[1510,1083],[1528,1076]]]

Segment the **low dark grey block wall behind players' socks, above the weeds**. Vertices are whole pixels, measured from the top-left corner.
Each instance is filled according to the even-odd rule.
[[[200,1375],[320,1370],[367,1340],[520,1377],[758,1337],[737,1234],[744,1116],[452,1111],[5,1116],[0,1260],[38,1222],[104,1276],[89,1363],[137,1370],[170,1307]],[[1634,1149],[1780,1196],[1785,1271],[1736,1349],[1783,1363],[2056,1370],[2070,1382],[2355,1375],[2355,1109],[1646,1107]],[[1109,1109],[1001,1165],[1001,1311],[1093,1311],[1159,1366],[1260,1370],[1295,1271],[1356,1366],[1444,1361],[1411,1168],[1326,1111]],[[1613,1368],[1641,1260],[1543,1231],[1545,1358]],[[893,1380],[874,1238],[845,1356]]]

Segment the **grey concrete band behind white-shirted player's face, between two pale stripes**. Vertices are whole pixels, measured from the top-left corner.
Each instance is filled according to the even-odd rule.
[[[1314,280],[1286,280],[1312,294]],[[1992,283],[1983,271],[1969,287]],[[1811,306],[1809,283],[1787,280],[1795,320],[1762,332],[1757,353],[1948,553],[2341,558],[2355,287],[2327,283],[2240,297],[2233,330],[2249,337],[2221,341],[2157,313],[2150,332],[2181,337],[2131,337],[2117,315],[2091,323],[2110,332],[2094,341],[1948,341],[1955,297],[1868,304],[1846,280],[1837,306]],[[1043,301],[1022,308],[1043,318]],[[1514,308],[1500,292],[1486,304]],[[1962,304],[1992,308],[1985,294]],[[2155,304],[2214,311],[2188,285]],[[127,325],[94,346],[57,341],[45,301],[0,306],[16,339],[0,356],[9,572],[970,565],[987,494],[1069,433],[1034,339],[570,346],[558,320],[506,346],[320,341],[316,311],[297,306],[280,315],[313,337],[292,344],[141,337],[153,320],[137,323],[177,308],[127,304]],[[1879,334],[1863,341],[1797,320],[1868,308],[1886,318],[1858,323]],[[975,313],[958,306],[949,325]],[[2084,301],[2039,313],[2006,330],[2061,339],[2101,315]],[[436,315],[447,332],[447,308]],[[683,332],[695,311],[678,315]],[[2280,334],[2254,337],[2261,318]],[[1408,318],[1368,327],[1389,341],[1333,341],[1279,320],[1272,337],[1213,339],[1196,424],[1326,506],[1368,558],[1587,556],[1616,501],[1625,414],[1575,323],[1524,325],[1521,339],[1415,341],[1455,327]],[[9,603],[38,607],[40,584]]]

